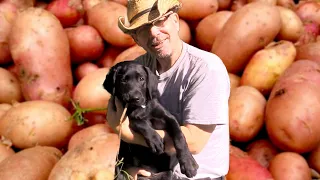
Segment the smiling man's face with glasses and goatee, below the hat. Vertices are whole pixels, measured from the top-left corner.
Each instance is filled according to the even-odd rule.
[[[179,17],[170,11],[152,24],[139,27],[132,37],[138,45],[157,58],[169,58],[175,41],[179,40]]]

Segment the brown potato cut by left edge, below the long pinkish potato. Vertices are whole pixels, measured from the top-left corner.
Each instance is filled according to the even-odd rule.
[[[10,71],[0,67],[0,103],[22,101],[22,92],[19,80]]]

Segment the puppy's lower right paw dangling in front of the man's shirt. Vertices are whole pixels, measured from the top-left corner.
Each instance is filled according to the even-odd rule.
[[[191,153],[187,153],[186,156],[183,156],[179,163],[181,172],[187,177],[191,178],[197,174],[199,165]]]

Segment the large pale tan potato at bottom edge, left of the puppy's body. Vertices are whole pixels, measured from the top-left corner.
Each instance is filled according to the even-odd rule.
[[[97,134],[68,150],[48,180],[113,179],[118,149],[118,135]]]

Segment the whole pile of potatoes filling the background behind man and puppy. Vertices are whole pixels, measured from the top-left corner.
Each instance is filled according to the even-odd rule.
[[[320,178],[320,3],[180,1],[181,39],[229,72],[227,179]],[[0,2],[0,179],[113,179],[119,137],[102,83],[145,53],[117,26],[126,5]]]

